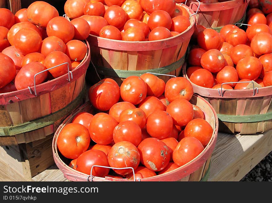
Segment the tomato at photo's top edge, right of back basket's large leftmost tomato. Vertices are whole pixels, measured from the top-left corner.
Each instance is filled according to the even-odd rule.
[[[105,7],[104,4],[101,2],[89,1],[83,7],[84,15],[98,15],[104,16],[105,14]]]

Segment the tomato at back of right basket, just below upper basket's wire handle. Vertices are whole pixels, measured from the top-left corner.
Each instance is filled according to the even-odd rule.
[[[238,28],[228,32],[225,39],[226,42],[235,47],[238,44],[245,44],[247,42],[247,35],[244,30]]]

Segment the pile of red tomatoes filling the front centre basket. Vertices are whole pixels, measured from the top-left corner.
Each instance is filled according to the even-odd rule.
[[[94,112],[77,113],[57,137],[59,152],[77,171],[99,177],[147,178],[172,171],[200,154],[214,129],[191,104],[192,84],[154,74],[129,76],[119,87],[105,78],[90,87]],[[111,167],[111,168],[108,168]],[[122,169],[119,169],[122,168]]]

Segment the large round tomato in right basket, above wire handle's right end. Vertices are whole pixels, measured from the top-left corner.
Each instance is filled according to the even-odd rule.
[[[236,65],[236,71],[240,79],[256,80],[261,74],[262,64],[256,57],[245,57]]]

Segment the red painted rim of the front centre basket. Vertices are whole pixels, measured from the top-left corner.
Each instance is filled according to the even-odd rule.
[[[176,180],[179,180],[187,175],[190,175],[191,173],[196,171],[198,168],[202,167],[203,164],[206,162],[206,160],[209,159],[209,157],[211,156],[211,154],[215,148],[215,143],[217,140],[218,125],[219,125],[218,124],[218,122],[219,122],[218,117],[217,117],[217,114],[216,114],[214,108],[211,106],[210,103],[208,103],[208,101],[206,101],[204,98],[202,98],[199,95],[194,94],[193,96],[198,97],[201,100],[203,100],[206,103],[206,105],[210,107],[210,109],[212,110],[212,112],[214,114],[215,129],[214,129],[213,136],[210,139],[210,142],[207,144],[205,149],[197,157],[195,157],[193,160],[191,160],[189,163],[185,164],[184,166],[181,166],[175,170],[169,171],[164,174],[160,174],[160,175],[149,177],[149,178],[143,178],[140,181],[176,181]],[[86,105],[86,104],[87,103],[85,103],[83,105]],[[72,114],[70,116],[72,116]],[[68,116],[68,117],[70,117],[70,116]],[[54,134],[53,142],[52,142],[53,158],[54,158],[55,163],[57,164],[57,166],[60,168],[61,171],[63,170],[62,168],[65,168],[65,171],[62,171],[62,172],[64,173],[64,176],[68,180],[69,180],[69,177],[77,177],[77,180],[79,180],[79,181],[87,181],[87,180],[90,180],[90,178],[88,179],[87,174],[84,174],[82,172],[72,169],[71,167],[66,165],[58,156],[57,136],[58,136],[59,132],[61,131],[61,129],[65,126],[65,122],[68,120],[68,117],[66,118],[65,121],[62,122],[62,124],[58,127],[58,129],[56,130],[56,132]],[[110,180],[134,181],[134,180],[114,179],[114,178],[105,179],[105,178],[96,177],[96,176],[92,178],[92,181],[110,181]]]

